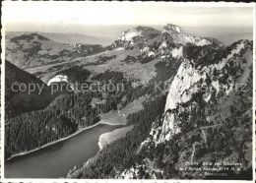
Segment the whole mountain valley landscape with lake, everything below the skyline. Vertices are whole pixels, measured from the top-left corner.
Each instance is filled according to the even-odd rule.
[[[104,46],[38,33],[6,44],[7,177],[207,179],[180,169],[205,160],[252,167],[243,133],[252,128],[252,41],[224,45],[167,24],[124,30]],[[45,91],[12,91],[13,83]],[[50,93],[62,84],[69,88]]]

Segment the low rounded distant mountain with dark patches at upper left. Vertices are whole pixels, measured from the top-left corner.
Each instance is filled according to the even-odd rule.
[[[59,43],[38,33],[6,36],[6,59],[21,68],[68,62],[101,51],[103,47],[98,44]]]

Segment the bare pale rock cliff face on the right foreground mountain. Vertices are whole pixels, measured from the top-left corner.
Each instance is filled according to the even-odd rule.
[[[190,61],[185,61],[181,64],[176,77],[171,83],[170,90],[168,91],[165,105],[166,117],[164,118],[162,125],[162,132],[166,135],[161,137],[162,139],[160,139],[160,142],[164,141],[164,136],[165,140],[168,140],[171,133],[175,134],[180,131],[175,128],[177,127],[177,124],[175,124],[175,114],[169,114],[167,111],[174,110],[180,104],[189,102],[192,99],[193,94],[201,92],[203,87],[207,86],[210,89],[203,94],[203,99],[207,103],[210,98],[216,98],[222,91],[224,91],[223,94],[227,96],[230,91],[233,91],[235,83],[244,84],[247,82],[249,77],[247,74],[250,64],[243,64],[244,66],[242,67],[245,67],[247,72],[245,71],[245,78],[239,80],[234,80],[235,76],[232,76],[228,70],[231,69],[231,67],[229,67],[230,64],[241,64],[239,62],[234,62],[232,58],[234,58],[235,54],[240,53],[241,49],[246,49],[245,47],[248,44],[247,41],[236,43],[234,49],[226,56],[226,58],[223,58],[219,63],[210,66],[195,69],[193,68],[193,63],[190,63]],[[214,72],[219,72],[219,76],[215,76]]]

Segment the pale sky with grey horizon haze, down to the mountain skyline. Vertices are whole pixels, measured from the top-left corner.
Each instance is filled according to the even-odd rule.
[[[3,2],[7,31],[83,33],[116,38],[123,30],[166,24],[198,36],[251,34],[252,7],[193,7],[173,3]],[[247,36],[247,35],[246,35]],[[247,36],[248,37],[248,36]]]

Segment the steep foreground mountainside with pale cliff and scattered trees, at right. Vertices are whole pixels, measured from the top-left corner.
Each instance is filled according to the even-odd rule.
[[[247,171],[252,165],[252,136],[244,132],[251,131],[251,96],[251,41],[227,46],[222,59],[212,63],[201,62],[200,55],[185,58],[170,85],[164,114],[137,152],[140,160],[117,177],[144,172],[148,178],[206,178],[200,171],[181,169],[186,162],[213,160],[240,162]],[[232,173],[238,176],[241,170]]]

